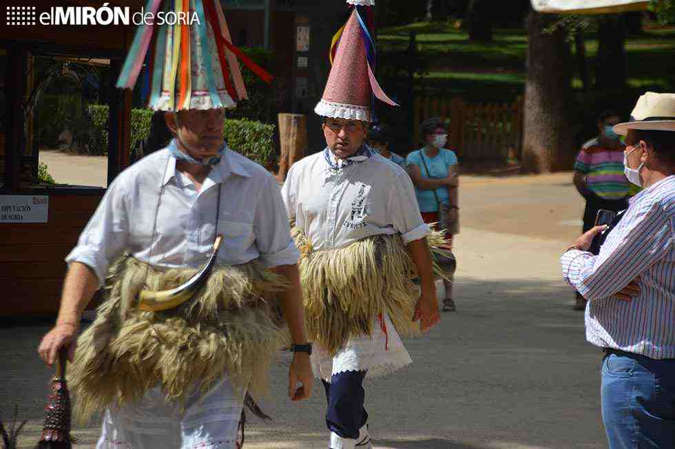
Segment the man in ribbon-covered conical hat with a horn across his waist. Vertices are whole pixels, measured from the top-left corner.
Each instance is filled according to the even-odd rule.
[[[174,139],[108,187],[67,255],[61,309],[39,353],[51,365],[70,348],[76,415],[104,413],[98,448],[234,449],[242,404],[261,413],[253,397],[287,340],[284,321],[289,395],[311,394],[298,250],[274,178],[223,140],[225,108],[246,91],[220,2],[148,6],[169,8],[198,23],[139,28],[118,86],[133,87],[145,60],[149,106],[167,111]],[[96,320],[76,340],[103,285]]]

